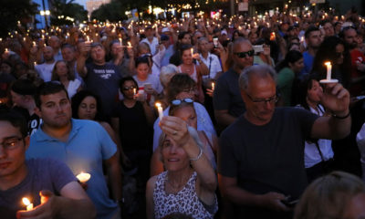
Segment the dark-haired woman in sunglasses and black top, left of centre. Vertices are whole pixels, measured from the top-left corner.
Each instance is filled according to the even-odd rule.
[[[133,167],[138,167],[142,184],[149,178],[152,124],[155,119],[146,96],[136,95],[138,84],[134,78],[120,80],[120,92],[124,99],[117,103],[111,116],[111,126],[117,133],[123,151]]]

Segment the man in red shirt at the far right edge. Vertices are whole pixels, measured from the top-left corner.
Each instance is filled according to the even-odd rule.
[[[347,47],[349,47],[349,54],[351,56],[349,92],[352,96],[358,96],[364,89],[365,82],[365,56],[358,49],[358,43],[356,41],[358,33],[354,27],[346,26],[339,33],[339,36],[345,41]]]

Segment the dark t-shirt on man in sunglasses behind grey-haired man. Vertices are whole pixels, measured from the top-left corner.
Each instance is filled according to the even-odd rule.
[[[228,110],[234,117],[239,117],[245,112],[245,102],[241,97],[238,86],[239,74],[233,68],[218,78],[214,89],[214,110]]]

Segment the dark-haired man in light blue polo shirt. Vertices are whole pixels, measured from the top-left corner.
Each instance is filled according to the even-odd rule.
[[[27,158],[47,157],[66,162],[71,171],[89,172],[87,193],[97,208],[98,218],[120,218],[121,175],[116,144],[98,122],[71,119],[71,105],[65,88],[42,84],[36,93],[36,113],[44,123],[30,140]],[[102,172],[108,169],[111,197]]]

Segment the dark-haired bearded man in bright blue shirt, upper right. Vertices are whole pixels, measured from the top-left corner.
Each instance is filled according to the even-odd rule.
[[[300,75],[308,74],[312,70],[314,57],[316,56],[318,47],[322,43],[320,31],[316,26],[308,27],[304,36],[306,37],[307,51],[303,53],[304,68]]]

